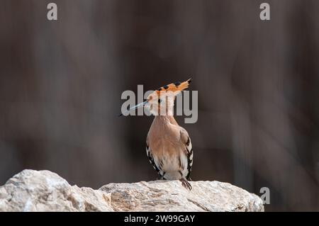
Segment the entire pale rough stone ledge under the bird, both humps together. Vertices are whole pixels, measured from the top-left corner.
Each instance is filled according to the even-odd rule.
[[[0,186],[0,211],[264,211],[262,200],[218,181],[109,183],[70,186],[51,171],[23,170]]]

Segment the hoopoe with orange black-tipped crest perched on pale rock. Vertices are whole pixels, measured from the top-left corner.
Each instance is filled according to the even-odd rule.
[[[147,107],[155,115],[146,138],[146,153],[160,179],[180,180],[191,190],[193,149],[188,132],[177,124],[173,116],[177,94],[188,88],[191,79],[162,86],[147,96],[147,100],[128,109]]]

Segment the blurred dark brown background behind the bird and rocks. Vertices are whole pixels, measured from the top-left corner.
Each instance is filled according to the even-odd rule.
[[[55,2],[58,21],[47,21]],[[22,169],[69,183],[157,178],[152,117],[121,93],[194,78],[192,179],[270,188],[266,210],[319,210],[319,1],[0,0],[0,184]]]

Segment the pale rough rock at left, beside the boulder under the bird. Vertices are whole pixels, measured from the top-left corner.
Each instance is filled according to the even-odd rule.
[[[113,211],[110,197],[51,171],[23,170],[0,187],[0,211]]]

